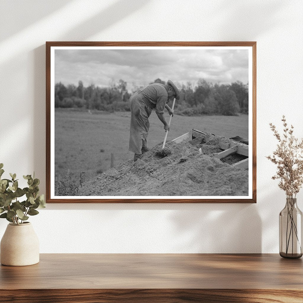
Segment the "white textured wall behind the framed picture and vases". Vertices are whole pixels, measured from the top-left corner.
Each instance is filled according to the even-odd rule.
[[[45,41],[257,41],[257,204],[48,204],[31,218],[40,251],[278,253],[285,195],[265,159],[268,123],[285,114],[303,136],[302,12],[301,1],[0,1],[0,162],[35,171],[42,192]]]

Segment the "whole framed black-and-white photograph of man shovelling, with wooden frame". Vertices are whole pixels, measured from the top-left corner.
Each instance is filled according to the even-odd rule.
[[[256,203],[256,42],[46,42],[47,203]]]

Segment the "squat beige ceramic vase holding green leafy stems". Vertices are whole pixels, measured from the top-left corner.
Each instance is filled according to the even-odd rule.
[[[30,222],[7,225],[0,244],[0,262],[10,266],[39,262],[39,240]]]

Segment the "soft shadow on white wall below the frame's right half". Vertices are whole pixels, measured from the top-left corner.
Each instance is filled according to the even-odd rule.
[[[179,253],[261,253],[262,227],[256,204],[191,205],[173,212]]]

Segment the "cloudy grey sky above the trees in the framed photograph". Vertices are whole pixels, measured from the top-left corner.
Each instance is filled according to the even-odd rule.
[[[107,87],[122,79],[130,92],[155,79],[196,85],[248,82],[248,50],[226,49],[56,49],[55,83]]]

